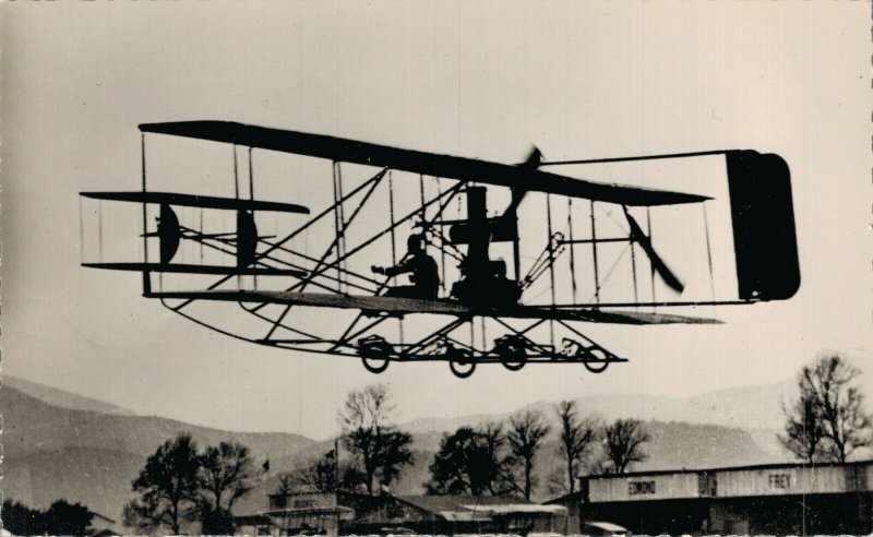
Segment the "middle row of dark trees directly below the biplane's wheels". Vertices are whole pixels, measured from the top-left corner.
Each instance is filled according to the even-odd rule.
[[[414,463],[412,437],[393,423],[396,405],[384,384],[374,384],[348,394],[339,422],[342,461],[336,450],[302,464],[282,476],[280,491],[344,490],[373,494],[388,488],[404,466]],[[565,473],[554,477],[561,490],[575,491],[583,469],[623,473],[647,458],[644,444],[650,440],[642,421],[618,419],[602,423],[581,416],[572,401],[553,408],[558,446]],[[443,435],[429,466],[423,488],[430,494],[512,496],[530,499],[539,485],[535,474],[538,453],[552,433],[543,413],[525,410],[505,422],[490,421],[478,427],[461,427]],[[601,453],[593,458],[597,446]]]

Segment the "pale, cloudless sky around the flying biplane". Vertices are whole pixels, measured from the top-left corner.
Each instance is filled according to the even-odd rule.
[[[349,390],[376,381],[398,419],[768,384],[824,349],[873,386],[869,3],[69,2],[5,3],[2,16],[4,374],[139,414],[313,438],[337,429]],[[461,381],[444,363],[374,377],[355,359],[246,344],[142,298],[135,274],[80,266],[93,250],[77,193],[137,189],[136,126],[187,119],[504,163],[531,144],[551,160],[777,153],[792,172],[802,284],[787,301],[697,311],[721,325],[590,326],[631,358],[597,377],[494,366]],[[227,153],[201,156],[181,174],[195,152],[165,147],[154,167],[181,189],[230,166]],[[637,168],[598,179],[625,172],[662,187]],[[324,195],[322,178],[289,188]],[[110,231],[105,246],[139,240]]]

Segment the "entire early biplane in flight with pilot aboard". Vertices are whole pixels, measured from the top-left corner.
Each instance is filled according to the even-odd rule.
[[[534,150],[519,164],[500,164],[226,121],[146,123],[140,131],[141,189],[81,195],[98,203],[142,206],[142,259],[100,260],[84,266],[141,273],[144,297],[222,334],[282,349],[354,357],[373,373],[391,362],[414,361],[445,361],[458,378],[469,377],[481,363],[501,363],[512,371],[528,363],[581,363],[601,372],[627,358],[589,337],[584,330],[588,323],[718,323],[665,310],[785,300],[800,285],[790,174],[775,154],[726,150],[546,162]],[[235,194],[150,190],[146,138],[152,136],[231,147]],[[240,178],[238,148],[248,152],[248,189],[241,188],[246,178]],[[332,170],[333,199],[318,210],[295,199],[256,199],[253,151],[323,162],[324,169]],[[705,217],[710,196],[551,171],[574,165],[704,156],[720,159],[727,169],[731,265],[736,268],[736,289],[729,298],[685,298],[681,272],[669,266],[654,242],[650,211],[703,207]],[[369,170],[354,188],[343,180],[349,166]],[[319,181],[314,177],[283,180],[287,198],[294,196],[295,189],[314,189]],[[399,210],[396,192],[404,181],[418,187],[420,194],[408,211]],[[328,179],[322,183],[328,184]],[[378,201],[378,192],[387,199]],[[533,214],[526,217],[533,224],[522,226],[519,215],[534,198],[545,200],[545,211],[528,211]],[[376,213],[361,216],[373,204]],[[555,222],[554,204],[566,206],[566,222]],[[619,232],[605,235],[598,225],[603,212],[598,207],[606,207]],[[199,212],[201,223],[204,213],[230,214],[236,229],[210,232],[183,217],[184,211]],[[291,224],[275,236],[261,235],[259,222],[267,214],[282,215],[283,222]],[[375,214],[386,219],[384,225],[374,222]],[[584,234],[579,219],[586,226]],[[545,229],[534,236],[530,229],[537,225]],[[326,230],[322,234],[326,239],[313,253],[300,248],[299,240],[316,226]],[[403,236],[411,237],[406,255],[397,248]],[[418,243],[415,252],[414,242]],[[530,242],[536,242],[533,250]],[[184,243],[196,244],[201,262],[179,259]],[[370,267],[381,259],[374,249],[385,252],[386,244],[391,262],[402,268]],[[630,261],[625,272],[633,296],[623,300],[611,300],[603,293],[612,273],[605,271],[606,252],[615,247],[624,253],[623,263]],[[203,262],[204,249],[227,262]],[[495,249],[505,259],[498,259]],[[410,254],[418,255],[431,272],[436,267],[436,279],[428,284],[434,287],[416,287],[421,274],[409,262]],[[414,285],[398,293],[404,273]],[[201,279],[194,288],[165,288],[164,278],[178,274],[211,279]],[[587,299],[579,299],[577,289],[583,278],[593,289]],[[645,281],[647,294],[637,289]],[[557,293],[559,283],[569,283],[572,291]],[[232,314],[220,323],[206,320],[206,313],[218,307],[230,308]]]

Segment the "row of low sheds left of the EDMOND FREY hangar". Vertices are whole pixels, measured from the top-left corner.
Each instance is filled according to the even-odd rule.
[[[267,481],[267,485],[271,485]],[[277,482],[235,509],[244,535],[420,535],[562,533],[566,509],[468,496],[278,493]],[[256,491],[254,491],[256,492]],[[266,493],[265,493],[266,492]]]

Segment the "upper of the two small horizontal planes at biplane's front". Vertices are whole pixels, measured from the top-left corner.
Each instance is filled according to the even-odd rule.
[[[273,211],[276,213],[309,214],[309,208],[295,203],[282,203],[213,195],[178,194],[175,192],[81,192],[80,195],[95,200],[110,200],[134,203],[158,203],[202,208],[225,208],[230,211]]]

